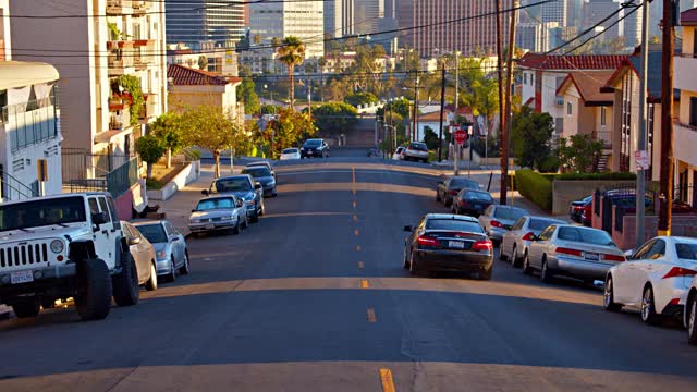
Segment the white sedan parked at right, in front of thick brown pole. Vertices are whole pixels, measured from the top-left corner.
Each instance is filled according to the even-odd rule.
[[[685,295],[697,274],[697,240],[659,236],[641,245],[608,271],[603,305],[640,310],[641,321],[656,324],[663,316],[680,316]]]

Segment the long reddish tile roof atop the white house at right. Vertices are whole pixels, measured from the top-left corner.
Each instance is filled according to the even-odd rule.
[[[624,54],[557,56],[525,53],[518,65],[536,70],[615,70]]]

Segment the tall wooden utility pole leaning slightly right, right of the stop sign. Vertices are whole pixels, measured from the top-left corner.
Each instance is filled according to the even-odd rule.
[[[511,128],[513,119],[511,118],[511,99],[513,97],[513,54],[515,52],[515,16],[517,15],[516,9],[521,5],[519,0],[513,0],[513,11],[511,11],[511,27],[509,30],[509,56],[506,58],[505,70],[505,108],[503,109],[503,115],[505,118],[503,122],[504,126],[501,127],[503,133],[501,134],[501,197],[499,203],[501,205],[506,204],[509,195],[509,140],[511,139]]]

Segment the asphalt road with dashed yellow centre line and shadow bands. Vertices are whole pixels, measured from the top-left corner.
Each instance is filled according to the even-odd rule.
[[[0,391],[697,390],[684,331],[592,287],[409,277],[402,226],[444,208],[428,170],[378,162],[279,166],[258,224],[189,241],[191,275],[103,321],[0,322]]]

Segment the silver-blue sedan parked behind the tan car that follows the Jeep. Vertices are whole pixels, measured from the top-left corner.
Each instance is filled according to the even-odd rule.
[[[186,240],[172,223],[167,220],[137,221],[133,222],[133,225],[155,247],[158,277],[173,282],[178,273],[191,272]]]

